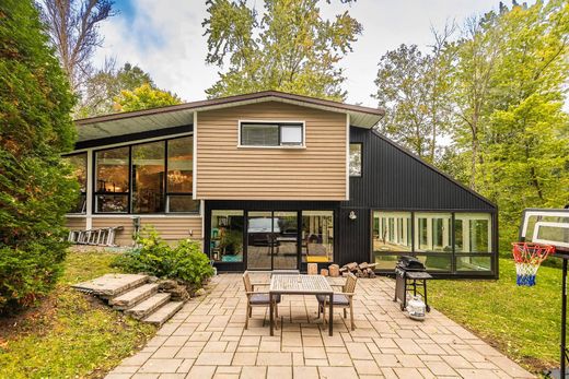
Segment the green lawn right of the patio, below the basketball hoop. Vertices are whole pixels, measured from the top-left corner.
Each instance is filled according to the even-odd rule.
[[[434,308],[542,371],[559,366],[561,270],[542,267],[536,282],[518,287],[513,260],[500,259],[499,281],[433,281],[429,296]]]

